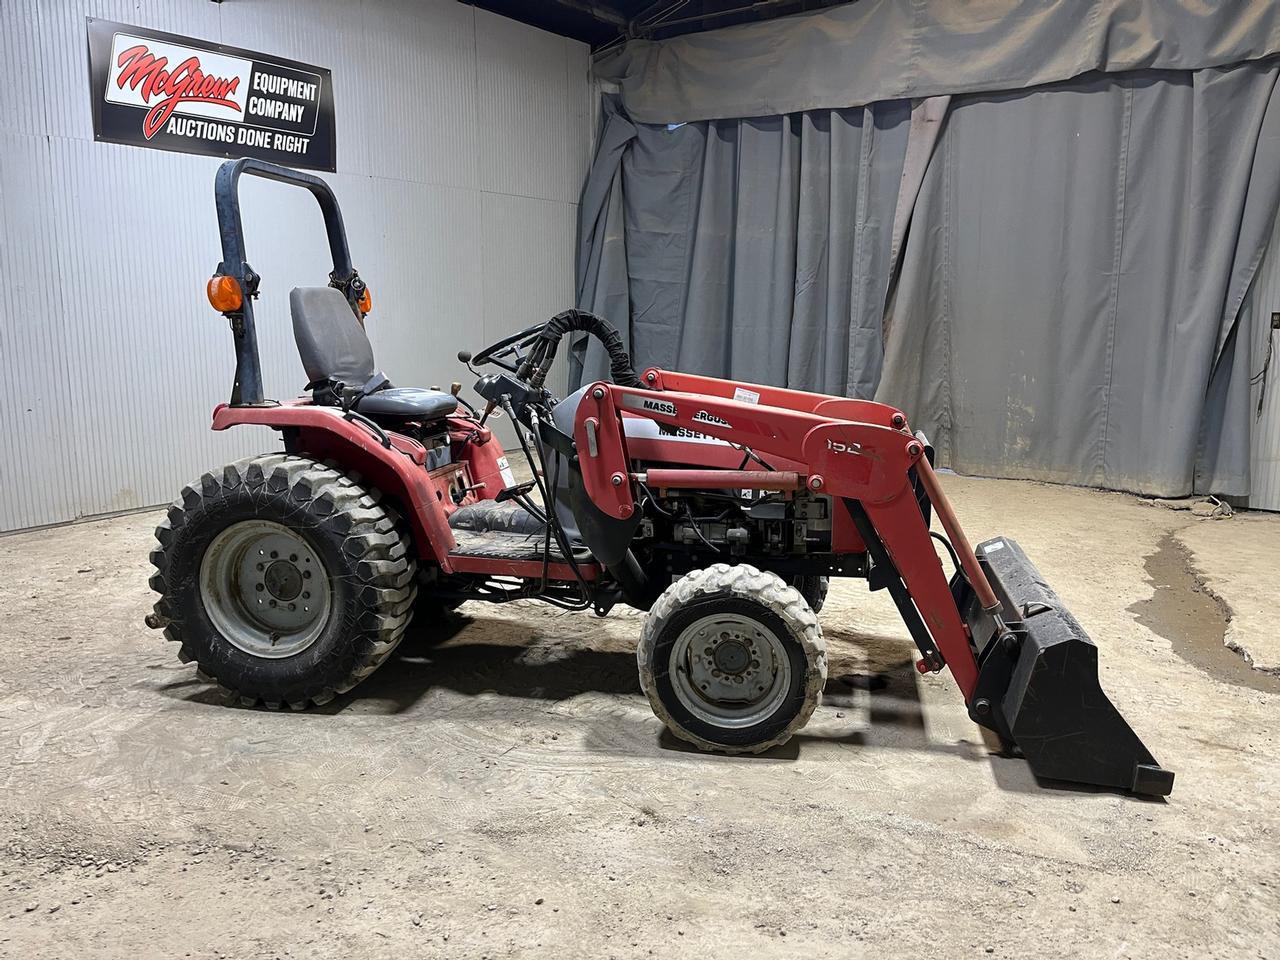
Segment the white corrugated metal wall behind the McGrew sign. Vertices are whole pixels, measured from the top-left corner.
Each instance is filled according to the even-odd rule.
[[[234,367],[204,297],[215,159],[93,142],[84,17],[333,70],[338,193],[396,381],[570,306],[589,159],[588,49],[454,0],[0,3],[0,530],[168,502],[274,448],[209,430]],[[273,396],[303,381],[288,292],[323,284],[319,210],[247,179]]]

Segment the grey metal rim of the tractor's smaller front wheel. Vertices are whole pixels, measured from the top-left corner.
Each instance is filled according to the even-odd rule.
[[[713,613],[685,627],[671,648],[671,686],[691,714],[740,730],[777,713],[791,689],[791,658],[759,621]]]

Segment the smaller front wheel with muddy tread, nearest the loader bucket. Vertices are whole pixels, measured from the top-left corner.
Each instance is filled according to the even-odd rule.
[[[804,596],[746,563],[668,586],[645,618],[636,662],[672,733],[730,754],[785,744],[827,682],[826,641]]]

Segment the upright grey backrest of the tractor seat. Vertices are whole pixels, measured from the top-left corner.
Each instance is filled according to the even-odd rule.
[[[347,298],[333,287],[294,287],[289,293],[293,339],[311,383],[339,380],[364,387],[374,375],[374,348]]]

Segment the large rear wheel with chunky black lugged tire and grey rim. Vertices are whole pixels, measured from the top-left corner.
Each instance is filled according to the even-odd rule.
[[[156,527],[155,621],[183,663],[244,705],[324,704],[404,635],[416,564],[380,494],[269,454],[205,474]]]

